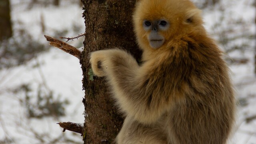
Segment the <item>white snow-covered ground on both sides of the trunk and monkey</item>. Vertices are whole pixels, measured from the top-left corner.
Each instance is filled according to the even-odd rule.
[[[231,34],[239,32],[244,32],[245,35],[247,32],[255,34],[253,0],[220,1],[219,5],[202,11],[206,29],[214,38],[218,39],[218,32],[222,31],[221,28],[230,28],[230,26],[234,26]],[[30,1],[11,0],[14,30],[22,27],[33,35],[34,40],[46,45],[48,42],[46,42],[44,34],[52,36],[54,31],[68,30],[65,36],[70,37],[84,32],[82,8],[78,4],[62,0],[59,7],[36,6],[26,10],[28,2]],[[224,9],[220,10],[220,7],[224,7]],[[220,21],[223,14],[225,17]],[[41,31],[42,18],[45,25],[44,33]],[[230,19],[233,21],[229,21]],[[234,20],[242,20],[246,24],[236,25],[232,23]],[[221,26],[215,28],[214,24],[216,23],[220,23]],[[74,32],[74,25],[80,28],[80,32]],[[80,38],[69,43],[80,47],[82,40],[83,38]],[[242,38],[234,44],[243,42],[248,41]],[[237,126],[234,136],[230,140],[231,144],[256,144],[256,120],[246,123],[246,118],[256,115],[254,44],[255,41],[251,40],[243,52],[234,51],[229,54],[230,57],[242,57],[249,60],[246,64],[230,64],[237,99],[245,100],[238,106]],[[36,96],[38,85],[43,84],[46,88],[53,90],[54,99],[68,100],[70,104],[66,105],[66,116],[42,119],[26,118],[26,108],[20,102],[22,98],[25,98],[24,93],[14,94],[9,91],[21,84],[30,84],[32,91],[29,94],[31,95]],[[25,65],[0,70],[0,144],[4,139],[8,140],[6,143],[14,144],[51,144],[55,138],[60,140],[57,142],[60,144],[64,142],[82,143],[82,137],[79,134],[68,131],[62,133],[62,129],[56,123],[68,121],[83,123],[83,96],[82,70],[79,60],[57,48],[51,48],[50,51],[38,55]],[[73,140],[73,142],[68,140]]]

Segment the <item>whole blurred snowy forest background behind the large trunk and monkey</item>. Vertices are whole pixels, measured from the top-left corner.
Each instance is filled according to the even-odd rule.
[[[230,144],[256,144],[256,1],[192,1],[232,71],[238,113]],[[0,144],[83,143],[56,124],[84,122],[79,60],[44,38],[84,33],[82,12],[80,0],[0,0]],[[83,39],[68,44],[80,48]]]

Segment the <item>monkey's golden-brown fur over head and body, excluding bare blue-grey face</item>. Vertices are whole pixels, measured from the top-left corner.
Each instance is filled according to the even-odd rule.
[[[126,114],[118,144],[225,144],[234,123],[234,92],[222,52],[189,0],[140,0],[134,31],[143,64],[119,49],[92,52]],[[150,47],[143,20],[166,19],[164,44]]]

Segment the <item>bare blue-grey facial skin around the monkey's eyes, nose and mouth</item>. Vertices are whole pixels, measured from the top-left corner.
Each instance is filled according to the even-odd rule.
[[[164,42],[165,37],[160,34],[160,31],[167,31],[170,24],[167,20],[144,20],[143,28],[148,32],[148,41],[152,48],[160,48]]]

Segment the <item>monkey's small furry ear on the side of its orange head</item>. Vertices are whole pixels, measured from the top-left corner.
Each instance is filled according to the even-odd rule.
[[[194,23],[194,22],[202,22],[201,13],[202,13],[202,11],[199,9],[189,10],[185,16],[185,18],[186,18],[185,22],[187,24]]]

